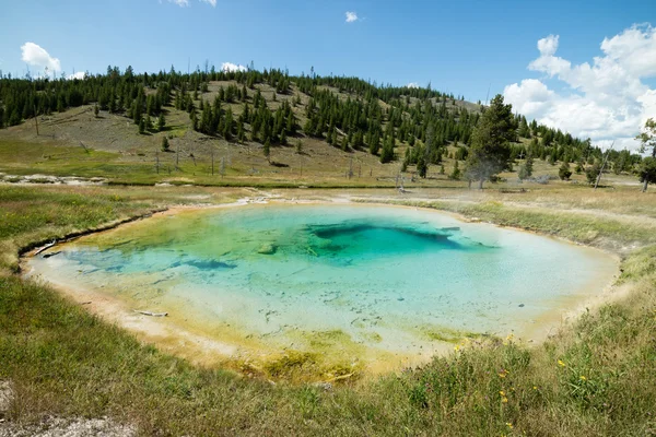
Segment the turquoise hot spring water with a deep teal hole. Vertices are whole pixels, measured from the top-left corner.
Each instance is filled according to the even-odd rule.
[[[341,331],[393,353],[473,333],[530,338],[616,271],[609,257],[527,233],[339,204],[184,212],[56,250],[31,261],[36,272],[184,314],[210,335],[231,327],[303,349],[303,333]]]

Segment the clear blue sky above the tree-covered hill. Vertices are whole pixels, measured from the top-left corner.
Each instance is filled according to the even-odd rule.
[[[538,40],[559,36],[559,58],[595,67],[605,38],[634,24],[656,25],[653,0],[0,0],[0,10],[5,74],[24,74],[21,47],[30,42],[58,59],[67,74],[104,72],[108,64],[140,72],[174,64],[186,71],[189,58],[192,69],[206,59],[218,67],[253,61],[258,69],[301,73],[314,66],[319,74],[394,85],[430,81],[433,88],[475,102],[485,99],[489,86],[493,95],[527,79],[562,97],[585,97],[587,92],[555,71],[528,69],[541,56]],[[347,23],[347,12],[358,20]],[[643,32],[645,39],[649,32]],[[43,64],[30,69],[34,73]],[[653,87],[653,74],[639,79]],[[530,109],[524,103],[517,101]]]

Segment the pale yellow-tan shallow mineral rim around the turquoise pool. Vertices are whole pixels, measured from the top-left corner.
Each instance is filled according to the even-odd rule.
[[[231,204],[211,209],[175,209],[156,214],[155,217],[163,218],[195,214],[199,211],[203,213],[220,211],[221,209],[237,205],[238,204]],[[293,206],[293,204],[276,202],[276,206],[284,208]],[[349,208],[417,210],[408,206],[375,206],[372,204],[350,204]],[[453,214],[444,214],[436,211],[430,211],[429,214],[448,217],[448,221],[458,222]],[[102,238],[110,239],[113,233],[125,233],[130,227],[142,226],[144,223],[150,223],[153,218],[122,225],[117,229],[103,233]],[[461,223],[465,225],[467,222]],[[475,227],[485,229],[495,226],[477,224]],[[330,228],[319,228],[316,234],[320,234],[320,237],[335,236],[331,234],[333,231],[335,229],[331,231]],[[366,232],[367,229],[355,226],[347,231],[353,233]],[[548,239],[546,237],[539,238]],[[562,241],[559,241],[559,245],[561,244]],[[50,248],[44,255],[61,250],[61,248],[62,247]],[[257,371],[258,368],[271,365],[271,363],[273,363],[274,366],[276,363],[279,363],[281,359],[285,363],[290,362],[290,354],[295,354],[294,356],[297,358],[295,359],[298,362],[296,363],[297,365],[304,366],[307,362],[311,362],[314,363],[311,366],[313,367],[313,370],[318,370],[318,373],[326,377],[335,377],[345,375],[349,371],[375,374],[425,363],[436,353],[445,353],[446,351],[453,350],[454,344],[458,343],[464,338],[477,338],[488,334],[504,336],[505,334],[514,332],[515,336],[522,338],[525,341],[532,340],[534,342],[539,342],[551,330],[560,326],[563,317],[565,317],[567,312],[596,297],[598,292],[607,287],[612,282],[613,275],[617,274],[618,265],[616,260],[609,259],[610,257],[601,251],[573,245],[572,249],[575,249],[581,256],[599,261],[604,271],[593,272],[595,276],[594,281],[586,283],[584,286],[585,290],[578,290],[571,295],[560,296],[557,302],[554,302],[554,309],[537,315],[531,318],[529,322],[517,326],[517,329],[508,330],[509,332],[503,331],[503,323],[502,327],[494,332],[477,332],[476,330],[454,329],[431,323],[405,326],[403,332],[410,332],[410,336],[414,340],[419,339],[415,341],[415,347],[405,349],[397,347],[397,345],[390,346],[389,344],[385,347],[377,346],[377,344],[385,343],[385,339],[391,335],[391,328],[396,328],[397,324],[402,324],[402,321],[400,320],[387,322],[387,326],[385,326],[386,323],[378,323],[373,329],[368,329],[371,326],[363,326],[362,328],[359,328],[362,331],[361,338],[354,338],[352,333],[340,329],[321,329],[320,327],[315,327],[317,329],[311,330],[292,329],[290,332],[285,332],[285,343],[278,341],[280,339],[277,339],[276,332],[260,332],[259,335],[253,335],[253,332],[244,332],[242,327],[235,327],[232,323],[215,323],[212,321],[211,311],[206,315],[198,315],[198,312],[202,311],[198,311],[199,308],[196,308],[196,317],[189,317],[189,314],[185,314],[185,311],[181,310],[188,302],[179,294],[166,297],[149,296],[145,300],[142,298],[143,296],[129,296],[125,293],[121,293],[120,297],[117,297],[115,293],[107,292],[107,286],[77,286],[63,277],[57,277],[57,269],[47,269],[44,268],[44,265],[35,268],[34,263],[30,262],[30,260],[26,260],[25,265],[33,269],[32,272],[27,273],[28,275],[34,276],[39,274],[43,279],[52,283],[66,295],[75,300],[91,300],[92,304],[89,305],[89,308],[93,312],[130,329],[136,332],[138,336],[155,343],[163,351],[183,355],[198,364],[214,365],[216,363],[223,363],[224,365],[227,364],[233,367],[246,370],[255,369],[255,371]],[[609,270],[610,267],[612,267],[612,270]],[[199,267],[191,265],[190,268],[198,269]],[[393,300],[390,304],[388,303],[389,306],[399,306],[405,302],[403,299],[400,299],[400,297],[398,299],[399,300],[397,302]],[[173,308],[169,310],[171,317],[157,320],[132,312],[132,309],[145,309],[142,307],[144,303],[148,305],[155,305],[155,307],[148,308],[152,310]],[[156,305],[161,305],[161,307],[156,307]],[[503,303],[503,305],[507,304]],[[524,308],[525,307],[517,306],[514,311],[522,311]],[[394,317],[391,317],[391,319],[394,319]],[[382,334],[380,336],[383,340],[378,339],[376,334]],[[406,340],[408,338],[406,338]],[[342,359],[344,357],[347,359]]]

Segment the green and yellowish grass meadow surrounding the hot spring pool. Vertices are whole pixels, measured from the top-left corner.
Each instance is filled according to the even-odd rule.
[[[15,398],[2,418],[20,424],[45,414],[110,415],[142,435],[656,433],[656,237],[651,221],[632,215],[635,205],[623,192],[597,203],[614,204],[617,216],[596,208],[566,211],[589,190],[544,190],[541,200],[537,193],[516,199],[447,191],[450,200],[413,201],[614,250],[631,293],[535,347],[512,338],[466,341],[422,368],[332,387],[273,385],[194,367],[8,271],[19,249],[35,240],[190,203],[198,194],[210,196],[208,202],[243,194],[235,191],[3,186],[0,244],[10,256],[0,275],[0,379],[12,382]],[[648,196],[642,198],[647,204]],[[290,355],[270,371],[298,371],[312,359]]]

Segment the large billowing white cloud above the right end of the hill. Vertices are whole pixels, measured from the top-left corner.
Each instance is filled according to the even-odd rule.
[[[590,138],[599,145],[637,147],[633,138],[648,117],[656,116],[656,91],[644,79],[656,75],[656,31],[634,25],[600,44],[602,56],[593,62],[572,64],[555,56],[559,36],[538,42],[540,56],[531,71],[558,80],[562,91],[550,90],[542,80],[525,79],[507,85],[506,102],[529,119]]]

